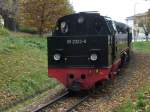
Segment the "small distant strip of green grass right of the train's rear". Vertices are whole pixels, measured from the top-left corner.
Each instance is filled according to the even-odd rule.
[[[133,50],[141,53],[150,53],[150,41],[134,42]]]

